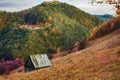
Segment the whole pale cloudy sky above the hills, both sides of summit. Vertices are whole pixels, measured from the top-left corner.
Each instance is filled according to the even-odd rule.
[[[16,12],[24,9],[32,8],[33,6],[39,5],[45,1],[53,0],[0,0],[0,10],[8,12]],[[90,0],[58,0],[71,4],[87,13],[90,14],[111,14],[115,15],[113,5],[92,5]]]

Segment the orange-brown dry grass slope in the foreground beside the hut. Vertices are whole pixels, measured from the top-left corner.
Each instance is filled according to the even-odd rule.
[[[120,80],[120,32],[89,42],[89,47],[52,61],[53,66],[0,77],[0,80]]]

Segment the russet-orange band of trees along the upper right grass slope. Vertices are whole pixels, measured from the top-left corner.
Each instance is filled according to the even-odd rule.
[[[120,16],[114,17],[109,21],[106,21],[99,25],[98,27],[93,28],[91,39],[95,39],[101,36],[104,36],[108,33],[113,32],[114,30],[120,28]]]

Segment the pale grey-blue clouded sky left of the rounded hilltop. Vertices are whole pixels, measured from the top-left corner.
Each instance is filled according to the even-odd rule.
[[[0,10],[9,12],[20,11],[40,4],[42,2],[40,1],[38,3],[38,0],[0,0]]]

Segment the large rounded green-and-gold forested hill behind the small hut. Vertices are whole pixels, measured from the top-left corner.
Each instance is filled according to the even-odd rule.
[[[44,2],[21,12],[0,12],[0,57],[12,53],[26,58],[48,49],[71,52],[75,42],[89,38],[102,21],[67,3]],[[44,27],[31,30],[21,26]]]

